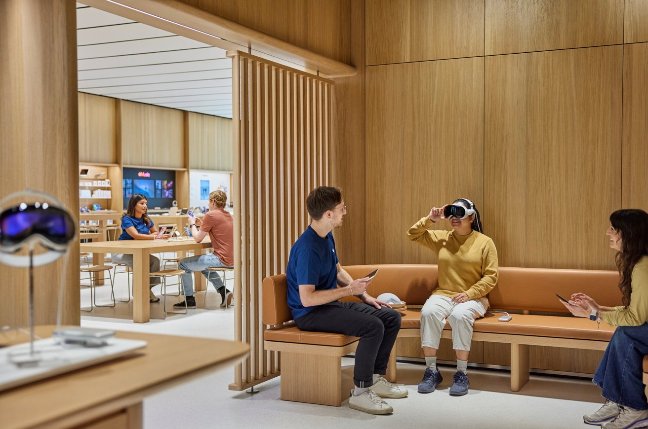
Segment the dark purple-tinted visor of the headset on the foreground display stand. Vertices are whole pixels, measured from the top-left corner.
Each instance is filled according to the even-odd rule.
[[[34,234],[62,245],[74,238],[75,224],[64,210],[51,206],[14,207],[0,214],[1,245],[16,245]]]

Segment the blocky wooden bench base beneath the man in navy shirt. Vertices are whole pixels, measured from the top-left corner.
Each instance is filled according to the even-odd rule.
[[[356,351],[357,340],[341,347],[277,341],[264,346],[281,351],[282,401],[340,406],[349,398],[342,386],[342,357]]]

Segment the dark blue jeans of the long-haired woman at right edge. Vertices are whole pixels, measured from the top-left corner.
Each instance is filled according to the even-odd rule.
[[[608,401],[635,410],[647,410],[643,391],[643,355],[648,355],[648,323],[619,326],[605,349],[594,384]]]

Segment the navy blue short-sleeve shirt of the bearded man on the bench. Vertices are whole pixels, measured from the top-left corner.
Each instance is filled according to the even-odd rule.
[[[288,307],[294,319],[310,313],[315,308],[301,305],[299,285],[315,285],[316,291],[338,287],[339,261],[333,234],[329,232],[322,238],[308,225],[290,249],[286,268]]]

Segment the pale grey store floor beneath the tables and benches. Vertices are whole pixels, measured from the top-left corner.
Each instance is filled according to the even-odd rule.
[[[83,283],[83,282],[82,282]],[[231,288],[231,281],[227,283]],[[209,287],[208,303],[218,307],[220,296]],[[109,302],[110,287],[97,288],[97,300]],[[154,291],[159,295],[159,287]],[[126,276],[117,276],[117,298],[126,298]],[[202,305],[204,292],[196,294]],[[89,303],[89,289],[81,292],[82,305]],[[178,298],[168,297],[168,307]],[[151,305],[154,317],[162,316],[161,303]],[[132,302],[115,309],[98,308],[82,313],[81,325],[121,331],[137,331],[205,338],[233,339],[234,310],[190,310],[188,315],[168,316],[148,324],[133,324]],[[172,353],[172,350],[170,350]],[[200,358],[200,357],[196,357]],[[343,359],[345,379],[353,375],[353,358]],[[399,363],[399,382],[410,390],[404,399],[391,399],[393,415],[373,416],[348,408],[301,404],[279,399],[280,378],[259,386],[259,393],[228,390],[233,369],[187,380],[185,384],[152,395],[144,404],[145,428],[575,428],[588,427],[582,415],[601,404],[599,389],[588,380],[532,376],[517,393],[509,391],[507,372],[469,369],[470,391],[450,397],[454,368],[444,366],[439,390],[421,395],[416,384],[421,364]]]

